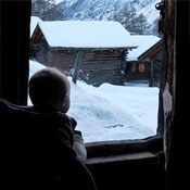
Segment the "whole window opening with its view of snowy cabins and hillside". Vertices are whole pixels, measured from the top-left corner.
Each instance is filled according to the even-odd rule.
[[[67,75],[72,86],[72,105],[67,114],[77,119],[77,129],[83,131],[85,142],[156,135],[162,64],[162,40],[156,29],[159,12],[155,10],[159,1],[137,4],[130,0],[119,4],[116,0],[33,0],[29,75],[45,66],[56,67]],[[91,21],[91,26],[87,21]],[[63,22],[67,27],[60,35]],[[90,30],[88,34],[83,30],[77,37],[83,28]],[[96,34],[100,35],[99,40]],[[71,37],[68,41],[64,38],[66,35]],[[109,37],[112,38],[110,43]],[[80,38],[85,39],[85,45],[79,43]],[[88,39],[92,40],[91,46]],[[69,40],[79,46],[71,45]],[[102,47],[96,47],[98,45]],[[75,85],[72,77],[80,51]],[[28,103],[31,104],[30,100]]]

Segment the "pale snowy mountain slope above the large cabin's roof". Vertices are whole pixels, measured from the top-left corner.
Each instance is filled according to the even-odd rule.
[[[66,20],[109,20],[116,11],[132,4],[137,14],[143,13],[150,24],[159,17],[155,3],[160,0],[64,0],[58,1]]]

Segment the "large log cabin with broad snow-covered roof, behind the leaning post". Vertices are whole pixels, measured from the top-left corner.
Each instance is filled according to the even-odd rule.
[[[78,78],[87,84],[121,85],[121,67],[131,48],[129,33],[117,22],[41,22],[31,36],[30,56],[66,75],[79,62]]]

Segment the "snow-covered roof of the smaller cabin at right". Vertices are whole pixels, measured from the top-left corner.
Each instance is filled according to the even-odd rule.
[[[129,51],[127,61],[137,61],[142,53],[161,40],[153,35],[132,35],[131,39],[138,45],[138,48]]]

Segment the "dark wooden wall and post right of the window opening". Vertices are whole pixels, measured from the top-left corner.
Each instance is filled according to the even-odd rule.
[[[189,1],[165,1],[164,64],[160,90],[160,126],[163,125],[167,190],[190,187],[189,112]],[[162,109],[163,107],[163,109]]]

